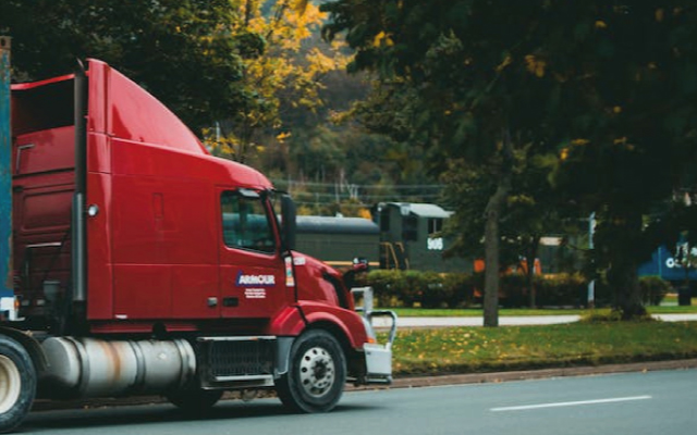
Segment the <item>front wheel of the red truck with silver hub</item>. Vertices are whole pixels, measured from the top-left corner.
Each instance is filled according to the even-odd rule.
[[[291,349],[288,373],[277,383],[279,398],[294,412],[331,411],[344,390],[346,359],[326,331],[301,335]]]

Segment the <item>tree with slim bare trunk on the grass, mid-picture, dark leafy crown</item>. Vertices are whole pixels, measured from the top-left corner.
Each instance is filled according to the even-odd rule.
[[[357,49],[354,70],[371,69],[386,86],[411,96],[394,119],[408,120],[407,140],[423,144],[435,167],[449,160],[486,169],[490,190],[482,209],[485,325],[498,325],[500,221],[509,202],[516,150],[549,146],[549,86],[540,62],[525,62],[540,41],[536,7],[519,2],[343,0],[325,7]],[[542,110],[530,110],[530,107]],[[465,165],[465,166],[463,166]],[[456,186],[453,186],[456,188]],[[479,233],[481,234],[481,233]]]

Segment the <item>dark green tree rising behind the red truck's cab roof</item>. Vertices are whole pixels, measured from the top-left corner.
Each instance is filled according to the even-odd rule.
[[[243,104],[243,61],[262,47],[239,26],[242,0],[4,0],[15,77],[41,79],[101,59],[170,107],[195,132]]]

